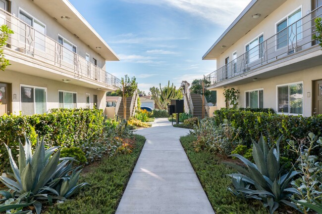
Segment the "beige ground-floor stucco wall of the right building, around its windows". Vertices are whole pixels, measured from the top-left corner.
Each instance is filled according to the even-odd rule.
[[[264,89],[264,108],[273,108],[277,110],[277,88],[278,85],[290,84],[303,82],[303,116],[312,116],[312,103],[313,103],[313,81],[322,79],[322,66],[293,72],[290,74],[285,74],[269,79],[264,79],[260,81],[255,81],[252,83],[234,86],[234,88],[240,91],[239,94],[239,106],[246,107],[245,105],[245,91],[254,89]],[[224,108],[224,96],[223,88],[218,87],[213,90],[217,90],[217,108]],[[310,92],[310,97],[308,97],[308,92]]]

